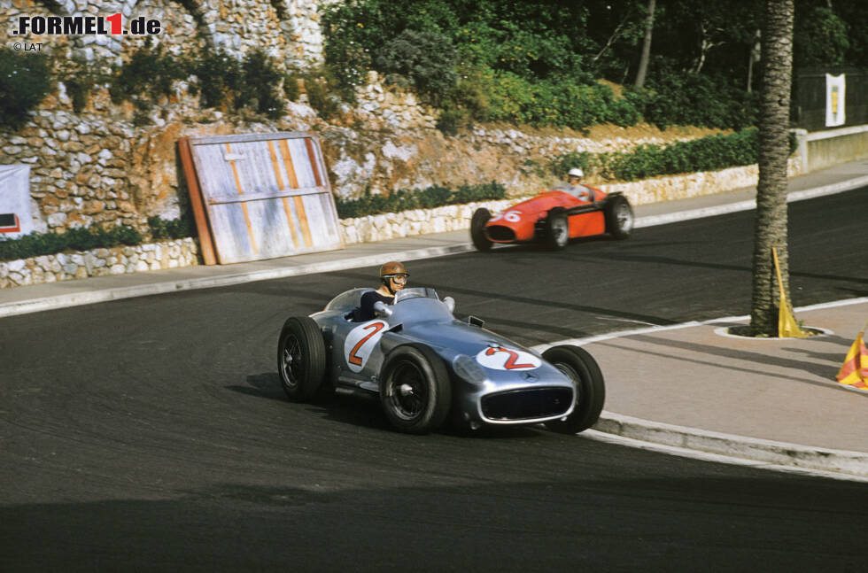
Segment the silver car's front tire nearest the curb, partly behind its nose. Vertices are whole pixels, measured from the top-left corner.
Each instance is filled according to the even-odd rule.
[[[584,348],[553,346],[543,352],[543,360],[572,378],[576,384],[576,406],[566,420],[546,422],[549,430],[576,434],[587,430],[600,418],[606,400],[606,385],[597,361]]]

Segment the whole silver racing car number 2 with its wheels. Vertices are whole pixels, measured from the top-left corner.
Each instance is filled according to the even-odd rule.
[[[378,396],[395,429],[413,434],[450,417],[473,429],[545,422],[576,433],[600,416],[603,376],[584,349],[523,348],[476,317],[459,321],[453,298],[422,287],[376,303],[374,320],[353,321],[368,290],[347,290],[322,312],[283,324],[277,370],[291,400],[331,390]]]

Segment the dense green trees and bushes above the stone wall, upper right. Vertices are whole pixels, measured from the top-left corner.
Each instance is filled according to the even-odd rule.
[[[863,4],[796,0],[794,66],[864,66]],[[326,62],[345,93],[372,69],[414,87],[443,109],[441,127],[452,131],[474,120],[579,129],[642,119],[661,127],[756,125],[751,88],[761,86],[751,52],[762,3],[657,0],[643,89],[614,97],[597,88],[599,80],[636,79],[649,6],[406,0],[398,8],[348,0],[325,9]]]

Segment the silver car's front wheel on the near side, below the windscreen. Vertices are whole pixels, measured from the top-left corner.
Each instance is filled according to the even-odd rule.
[[[401,345],[389,352],[381,370],[380,404],[395,430],[438,430],[452,405],[452,383],[443,360],[423,345]]]

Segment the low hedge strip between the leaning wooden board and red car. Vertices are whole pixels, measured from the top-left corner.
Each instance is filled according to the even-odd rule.
[[[502,199],[506,194],[506,188],[496,182],[461,185],[457,190],[434,185],[423,190],[397,190],[388,196],[371,195],[368,191],[360,199],[338,198],[335,204],[337,216],[350,219],[377,213],[400,213],[409,209],[431,209],[443,205]]]

